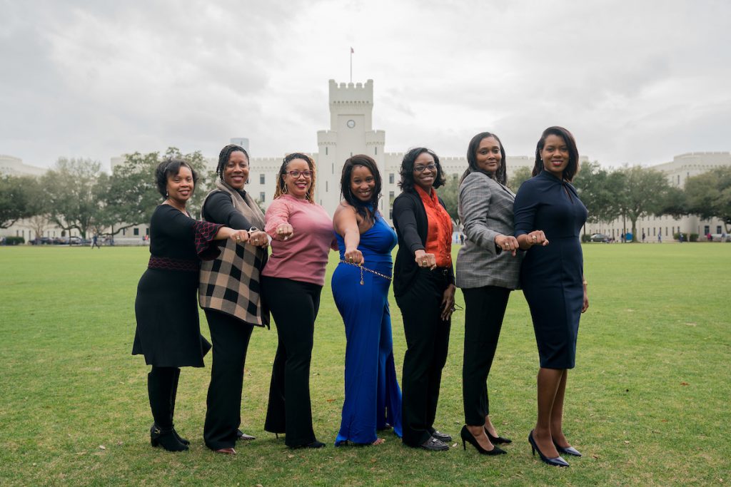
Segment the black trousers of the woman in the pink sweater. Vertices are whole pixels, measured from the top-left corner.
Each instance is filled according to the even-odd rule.
[[[321,285],[262,276],[262,296],[279,337],[264,429],[284,433],[287,446],[316,440],[310,404],[310,360],[321,291]]]

